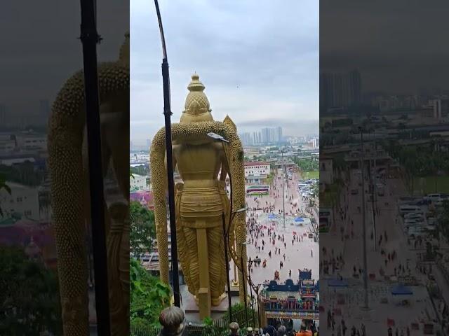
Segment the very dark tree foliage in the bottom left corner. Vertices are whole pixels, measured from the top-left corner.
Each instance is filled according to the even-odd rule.
[[[62,335],[58,278],[18,247],[0,246],[0,335]]]

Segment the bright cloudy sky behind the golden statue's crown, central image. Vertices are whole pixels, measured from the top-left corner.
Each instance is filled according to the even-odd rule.
[[[319,1],[161,0],[173,123],[196,71],[215,120],[239,132],[281,126],[318,134]],[[163,127],[161,40],[154,3],[130,3],[131,140]]]

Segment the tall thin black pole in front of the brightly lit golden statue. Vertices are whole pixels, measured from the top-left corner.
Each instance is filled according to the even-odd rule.
[[[168,72],[168,60],[166,50],[166,40],[163,36],[161,12],[159,3],[154,0],[156,5],[157,20],[159,22],[159,31],[162,41],[162,81],[163,81],[163,115],[165,116],[166,126],[166,151],[167,151],[167,179],[168,179],[168,209],[170,213],[170,237],[171,237],[171,269],[173,278],[173,297],[175,306],[181,307],[180,302],[180,279],[177,265],[177,240],[176,240],[176,222],[175,222],[175,182],[173,181],[173,153],[171,148],[171,121],[172,115],[170,109],[170,74]]]

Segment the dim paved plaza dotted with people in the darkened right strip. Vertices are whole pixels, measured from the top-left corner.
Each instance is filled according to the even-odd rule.
[[[341,262],[337,263],[340,269],[332,272],[326,276],[327,279],[335,278],[338,273],[344,278],[349,279],[349,287],[346,289],[335,290],[326,287],[326,279],[321,286],[321,303],[327,309],[337,308],[341,309],[342,316],[337,316],[337,325],[340,323],[342,317],[346,321],[346,325],[351,328],[355,325],[360,328],[363,322],[366,325],[367,335],[374,335],[377,332],[387,333],[387,318],[395,321],[394,328],[404,330],[406,326],[410,325],[412,321],[420,321],[423,316],[434,317],[434,310],[429,300],[429,295],[424,286],[413,286],[413,297],[411,307],[402,307],[398,303],[401,299],[391,295],[391,288],[395,285],[386,281],[380,273],[386,275],[394,275],[395,267],[396,274],[400,273],[399,265],[407,268],[410,267],[412,275],[418,277],[419,281],[423,281],[422,274],[415,272],[415,262],[417,260],[416,253],[410,251],[406,238],[401,230],[401,223],[396,218],[397,204],[396,199],[399,196],[405,195],[405,188],[401,181],[389,180],[388,186],[385,190],[384,197],[379,197],[377,200],[378,214],[376,216],[376,237],[371,239],[373,233],[372,221],[372,204],[367,202],[366,207],[366,244],[367,244],[367,260],[368,260],[368,274],[374,274],[375,279],[368,281],[368,299],[371,311],[364,313],[361,311],[361,306],[364,304],[364,290],[362,276],[359,274],[359,269],[363,269],[363,226],[361,215],[361,182],[360,176],[351,172],[347,186],[343,188],[341,199],[344,200],[342,204],[348,204],[347,209],[343,209],[343,214],[346,213],[346,218],[337,216],[335,228],[330,230],[327,235],[321,235],[321,246],[327,247],[327,255],[321,255],[321,261],[330,260],[331,251],[334,251],[334,256],[342,255],[344,265]],[[351,195],[350,190],[357,189],[357,195]],[[366,184],[368,190],[368,184]],[[368,200],[368,197],[366,197]],[[354,223],[354,224],[353,224]],[[343,230],[343,231],[342,231]],[[343,235],[342,233],[343,232]],[[387,239],[385,239],[385,234]],[[378,239],[382,235],[382,243],[378,244]],[[374,244],[377,244],[376,251]],[[384,255],[380,251],[384,250]],[[396,252],[394,261],[389,260],[388,254]],[[387,260],[387,262],[385,262]],[[338,265],[340,264],[340,265]],[[354,267],[358,278],[354,278]],[[402,273],[408,273],[402,272]],[[388,303],[380,303],[382,299],[387,299]],[[339,303],[340,300],[340,303]],[[342,302],[344,300],[344,302]],[[333,335],[332,330],[326,330],[326,314],[321,316],[323,318],[323,335]],[[400,331],[399,331],[400,332]],[[406,335],[406,334],[405,334]],[[410,335],[422,335],[422,330],[411,330]]]

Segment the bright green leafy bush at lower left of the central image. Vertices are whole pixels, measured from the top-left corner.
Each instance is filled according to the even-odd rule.
[[[130,324],[132,328],[159,327],[161,311],[170,306],[171,290],[130,258]]]

